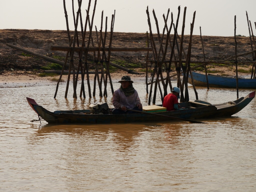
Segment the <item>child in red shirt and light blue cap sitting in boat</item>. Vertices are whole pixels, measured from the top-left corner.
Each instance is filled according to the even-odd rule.
[[[167,111],[185,109],[184,107],[179,108],[179,102],[178,102],[178,99],[180,99],[179,93],[180,93],[180,89],[178,87],[174,87],[172,89],[172,92],[164,97],[163,107],[166,107]]]

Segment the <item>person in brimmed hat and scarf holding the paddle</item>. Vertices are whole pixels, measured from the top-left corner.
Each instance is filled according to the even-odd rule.
[[[118,82],[121,83],[121,86],[113,94],[112,104],[115,109],[113,109],[112,114],[137,113],[127,111],[127,109],[142,111],[141,100],[138,92],[133,88],[131,77],[123,76]]]

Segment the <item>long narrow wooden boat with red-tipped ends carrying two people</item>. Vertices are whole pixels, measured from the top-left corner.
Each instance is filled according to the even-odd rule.
[[[157,113],[140,112],[135,114],[104,114],[107,110],[95,112],[92,109],[87,110],[67,110],[50,112],[38,105],[34,99],[28,98],[27,101],[32,109],[40,118],[47,121],[49,124],[68,124],[68,123],[142,123],[142,122],[163,122],[172,120],[183,120],[189,122],[202,123],[193,121],[193,119],[213,118],[219,116],[231,116],[241,111],[255,97],[255,91],[249,93],[246,97],[241,97],[235,101],[229,101],[221,104],[210,104],[208,102],[196,100],[180,103],[184,110],[162,111]],[[100,105],[106,103],[100,103]],[[95,104],[92,108],[100,106]],[[161,105],[157,105],[161,106]],[[90,107],[89,107],[90,108]],[[102,108],[105,108],[102,107]],[[110,110],[111,111],[111,110]],[[94,114],[93,114],[94,113]],[[108,113],[108,112],[107,112]]]

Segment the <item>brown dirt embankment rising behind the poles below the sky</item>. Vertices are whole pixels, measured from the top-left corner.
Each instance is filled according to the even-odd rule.
[[[70,31],[71,36],[73,31]],[[88,35],[88,34],[87,34]],[[80,35],[81,36],[81,35]],[[93,33],[94,45],[97,44],[97,36]],[[110,34],[107,34],[106,47],[109,46]],[[171,39],[173,37],[171,36]],[[88,38],[86,38],[88,39]],[[237,54],[251,51],[249,37],[237,37]],[[87,40],[86,40],[87,41]],[[157,34],[154,34],[154,41],[159,49],[159,41]],[[219,36],[202,36],[205,60],[223,60],[235,55],[235,41],[234,37],[219,37]],[[28,29],[1,29],[0,30],[0,74],[6,73],[10,70],[26,70],[31,71],[38,69],[40,66],[47,66],[49,61],[35,56],[28,57],[22,54],[22,51],[10,48],[6,43],[36,52],[41,55],[52,57],[66,56],[66,52],[52,51],[51,46],[68,46],[69,39],[67,31],[65,30],[28,30]],[[87,42],[86,42],[87,43]],[[81,46],[81,39],[79,42]],[[189,44],[189,36],[184,36],[184,50],[187,52]],[[118,33],[114,32],[112,47],[147,47],[146,33]],[[178,55],[177,50],[175,50]],[[90,54],[93,55],[93,52]],[[96,53],[97,54],[97,53]],[[111,60],[125,60],[130,63],[136,63],[145,67],[147,52],[112,52]],[[76,53],[74,64],[78,64],[78,54]],[[170,57],[170,48],[167,50],[166,60]],[[184,57],[184,56],[183,56]],[[83,58],[84,59],[84,58]],[[152,52],[149,52],[149,59],[153,60]],[[203,61],[203,49],[200,36],[193,36],[191,61]],[[238,61],[252,61],[252,55],[239,57]],[[93,68],[92,66],[89,66]]]

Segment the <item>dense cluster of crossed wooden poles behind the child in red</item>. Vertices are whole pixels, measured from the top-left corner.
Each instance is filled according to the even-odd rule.
[[[171,84],[170,75],[169,75],[172,62],[174,63],[175,68],[176,68],[176,75],[177,75],[177,79],[178,79],[176,86],[180,88],[180,97],[181,97],[180,101],[184,102],[184,101],[189,100],[187,81],[188,81],[188,75],[189,75],[189,70],[190,70],[191,42],[192,42],[193,27],[194,27],[194,21],[195,21],[195,12],[194,12],[194,17],[193,17],[193,22],[190,26],[191,27],[190,28],[190,40],[189,40],[189,45],[188,45],[188,52],[186,54],[184,51],[184,48],[183,48],[186,7],[184,8],[182,35],[181,35],[181,38],[179,39],[179,42],[180,42],[179,45],[178,45],[178,41],[177,41],[177,38],[178,38],[177,28],[178,28],[178,23],[179,23],[180,6],[178,7],[178,16],[177,16],[177,20],[176,20],[176,25],[174,25],[174,23],[173,23],[173,14],[171,13],[171,24],[170,24],[170,27],[168,28],[167,21],[168,21],[169,11],[170,10],[168,9],[166,17],[165,17],[165,15],[163,15],[165,25],[164,25],[164,29],[163,29],[163,33],[162,33],[162,37],[161,37],[160,33],[159,33],[158,21],[155,16],[155,12],[153,10],[153,15],[154,15],[155,23],[156,23],[156,28],[157,28],[157,37],[158,37],[158,42],[159,42],[159,50],[157,50],[156,43],[154,42],[154,37],[153,37],[153,33],[152,33],[152,27],[151,27],[148,7],[146,10],[147,17],[148,17],[148,25],[149,25],[149,30],[150,30],[150,38],[149,39],[151,42],[151,48],[152,48],[153,58],[154,58],[154,70],[152,72],[151,81],[150,81],[150,83],[147,83],[147,84],[151,85],[150,91],[149,91],[148,104],[151,103],[152,92],[153,92],[152,103],[155,104],[156,93],[158,90],[161,95],[162,101],[163,101],[163,98],[165,97],[165,95],[167,95],[168,92],[170,92],[172,90],[172,84]],[[173,41],[171,41],[171,39],[170,39],[170,31],[171,31],[172,27],[174,28]],[[166,34],[165,34],[165,31],[166,31]],[[164,42],[164,39],[165,39],[165,42]],[[175,55],[175,46],[176,46],[178,55]],[[169,61],[165,61],[168,47],[170,47],[170,49],[171,49],[170,59],[169,59]],[[183,55],[183,53],[184,53],[184,55]],[[186,59],[185,65],[182,60],[183,56]],[[173,60],[173,58],[174,58],[174,60]],[[176,59],[176,58],[178,58],[178,59]],[[149,62],[147,61],[146,64],[148,65],[148,63]],[[162,72],[163,65],[165,66],[166,78],[163,77],[163,72]],[[183,71],[183,79],[181,79],[182,71]],[[160,86],[160,82],[162,83],[162,86]],[[155,84],[154,90],[153,90],[153,84]],[[168,86],[168,84],[169,84],[169,86]],[[183,94],[184,86],[185,86],[185,97]],[[164,94],[162,93],[162,88],[163,88]],[[167,89],[170,89],[170,90],[168,91]],[[195,90],[195,93],[196,93],[196,90]],[[197,95],[197,93],[196,93],[196,95]]]

